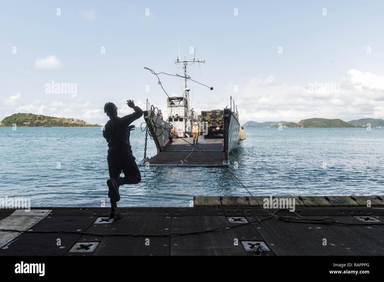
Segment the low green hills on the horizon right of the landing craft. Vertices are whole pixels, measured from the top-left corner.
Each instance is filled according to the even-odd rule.
[[[341,119],[302,119],[300,122],[254,122],[248,121],[243,124],[243,127],[279,127],[279,124],[282,127],[338,127],[338,128],[347,128],[347,127],[367,127],[367,124],[371,124],[371,127],[384,127],[384,120],[382,119],[356,119],[345,122]]]

